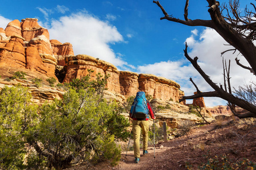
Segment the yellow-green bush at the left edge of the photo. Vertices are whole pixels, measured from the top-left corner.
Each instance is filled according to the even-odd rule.
[[[0,92],[0,169],[23,169],[26,134],[36,124],[37,106],[27,88],[4,87]]]

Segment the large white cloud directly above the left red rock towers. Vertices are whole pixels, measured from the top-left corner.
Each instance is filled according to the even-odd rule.
[[[127,62],[114,53],[110,44],[123,42],[122,35],[108,22],[79,12],[70,16],[62,16],[51,22],[48,29],[50,39],[60,42],[71,42],[75,55],[88,54],[103,59],[117,67],[124,67]]]

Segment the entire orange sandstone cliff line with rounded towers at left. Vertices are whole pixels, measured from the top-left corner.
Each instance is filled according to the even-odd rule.
[[[152,74],[119,71],[117,67],[88,55],[74,56],[72,44],[49,40],[49,32],[38,24],[38,19],[13,20],[5,29],[0,28],[0,67],[28,69],[37,74],[71,82],[93,70],[92,79],[98,73],[110,75],[106,88],[115,96],[135,96],[144,91],[154,99],[179,101],[183,96],[180,85],[172,80]],[[56,77],[57,76],[57,77]],[[109,96],[111,96],[109,94]]]

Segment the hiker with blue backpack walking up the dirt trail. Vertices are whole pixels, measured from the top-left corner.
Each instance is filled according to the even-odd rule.
[[[134,157],[135,162],[139,163],[141,158],[139,152],[139,138],[143,136],[143,155],[148,154],[147,141],[148,141],[148,130],[149,130],[149,116],[155,119],[155,113],[152,111],[150,102],[146,99],[146,95],[143,91],[137,92],[137,95],[133,101],[130,110],[130,117],[133,119],[133,139],[134,139]]]

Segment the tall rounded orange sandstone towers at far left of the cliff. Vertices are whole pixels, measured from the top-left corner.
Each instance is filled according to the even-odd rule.
[[[0,66],[20,67],[55,76],[57,59],[73,55],[70,43],[49,41],[49,32],[38,19],[13,20],[5,30],[0,28]],[[52,48],[52,46],[54,48]],[[59,59],[62,61],[63,58]]]

